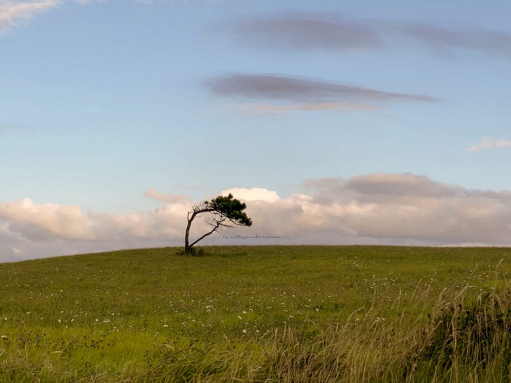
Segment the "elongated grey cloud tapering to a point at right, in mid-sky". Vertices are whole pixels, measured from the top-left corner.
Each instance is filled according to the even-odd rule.
[[[290,103],[436,101],[422,94],[387,92],[286,75],[228,74],[207,81],[206,86],[223,97]]]

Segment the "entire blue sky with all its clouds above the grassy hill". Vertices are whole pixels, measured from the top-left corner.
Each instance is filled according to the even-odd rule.
[[[511,246],[509,15],[0,0],[0,261],[182,246],[228,193],[201,244]]]

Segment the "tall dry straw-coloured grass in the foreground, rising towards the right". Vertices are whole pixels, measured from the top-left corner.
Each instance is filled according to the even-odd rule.
[[[406,310],[383,318],[375,297],[360,316],[312,333],[284,325],[258,340],[162,351],[141,381],[168,382],[507,382],[510,302],[506,290],[470,296],[417,289]],[[468,306],[467,306],[468,304]],[[314,325],[314,323],[311,323]],[[315,326],[314,326],[315,327]]]

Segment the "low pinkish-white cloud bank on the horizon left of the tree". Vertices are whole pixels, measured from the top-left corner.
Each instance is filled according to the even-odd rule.
[[[0,261],[18,257],[180,244],[190,202],[167,203],[145,212],[83,212],[78,206],[0,202]],[[194,233],[203,229],[201,223]]]

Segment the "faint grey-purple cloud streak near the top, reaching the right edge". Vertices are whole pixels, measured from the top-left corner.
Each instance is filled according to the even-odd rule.
[[[227,23],[231,36],[267,49],[373,50],[398,47],[401,41],[435,52],[466,50],[511,58],[511,35],[498,31],[445,28],[424,23],[361,20],[336,13],[282,13]]]

